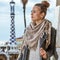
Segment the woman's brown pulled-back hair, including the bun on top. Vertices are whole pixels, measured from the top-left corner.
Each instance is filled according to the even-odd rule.
[[[47,1],[42,1],[41,3],[35,4],[35,6],[40,7],[41,8],[41,13],[44,12],[45,15],[46,15],[47,8],[50,6],[50,4]]]

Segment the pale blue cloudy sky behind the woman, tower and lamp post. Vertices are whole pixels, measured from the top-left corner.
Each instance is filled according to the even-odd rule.
[[[0,41],[7,41],[10,39],[10,5],[11,0],[0,0]],[[21,0],[15,1],[15,32],[16,37],[20,37],[24,32],[24,19]],[[26,21],[29,25],[31,18],[31,9],[35,3],[39,3],[42,0],[28,0],[26,5]],[[50,7],[47,11],[46,18],[52,22],[52,25],[57,28],[57,21],[55,20],[55,7],[56,1],[49,0]],[[53,23],[54,22],[54,23]]]

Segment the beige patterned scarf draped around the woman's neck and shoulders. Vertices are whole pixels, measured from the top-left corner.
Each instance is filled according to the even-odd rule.
[[[43,33],[46,32],[46,48],[50,44],[51,39],[51,23],[44,19],[40,24],[35,25],[33,22],[26,28],[23,39],[24,45],[28,45],[31,49],[36,49],[39,38],[43,37]]]

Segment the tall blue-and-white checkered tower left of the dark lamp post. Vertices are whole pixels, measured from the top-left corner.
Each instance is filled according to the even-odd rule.
[[[15,2],[12,0],[10,2],[10,9],[11,9],[11,35],[10,35],[10,44],[16,44],[16,36],[15,36],[15,21],[14,21],[14,18],[15,18]]]

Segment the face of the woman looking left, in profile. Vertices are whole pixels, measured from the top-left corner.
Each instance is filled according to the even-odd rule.
[[[31,19],[32,21],[36,22],[42,19],[42,13],[40,7],[34,6],[31,12]]]

